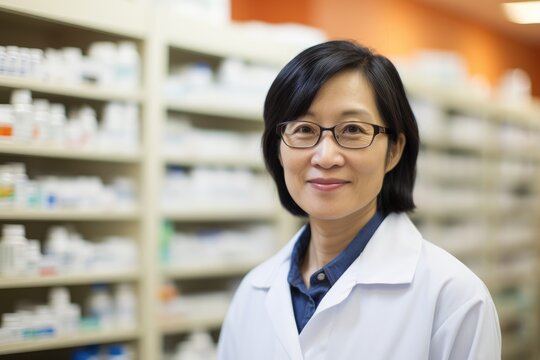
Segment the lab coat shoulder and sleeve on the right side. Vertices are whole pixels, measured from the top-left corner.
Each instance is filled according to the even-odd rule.
[[[484,282],[425,240],[418,275],[434,301],[430,358],[500,359],[499,319]]]

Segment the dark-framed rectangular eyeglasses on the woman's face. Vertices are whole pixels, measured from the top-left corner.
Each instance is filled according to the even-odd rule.
[[[389,128],[359,121],[348,121],[329,128],[311,121],[288,121],[278,124],[276,130],[285,145],[295,149],[314,147],[326,130],[331,131],[336,142],[347,149],[363,149],[373,143],[377,134],[392,134]]]

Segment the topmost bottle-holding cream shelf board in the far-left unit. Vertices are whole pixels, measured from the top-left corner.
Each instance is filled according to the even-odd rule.
[[[90,84],[67,85],[52,82],[47,83],[9,76],[0,76],[0,88],[28,89],[32,92],[97,101],[116,100],[139,102],[142,99],[142,91],[111,89]]]

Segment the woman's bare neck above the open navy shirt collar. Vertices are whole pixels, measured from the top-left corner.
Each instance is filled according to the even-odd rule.
[[[335,259],[375,212],[376,208],[373,207],[339,220],[310,218],[311,241],[302,262],[302,275],[307,286],[309,277]]]

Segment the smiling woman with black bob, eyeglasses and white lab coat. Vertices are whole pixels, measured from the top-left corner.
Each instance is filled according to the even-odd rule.
[[[313,46],[275,79],[264,121],[281,203],[309,222],[242,281],[219,359],[500,359],[487,288],[406,215],[418,128],[392,63]]]

